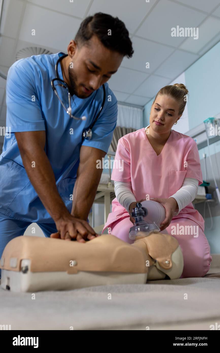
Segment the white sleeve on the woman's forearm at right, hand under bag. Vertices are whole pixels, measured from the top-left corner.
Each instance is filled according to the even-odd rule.
[[[194,178],[185,178],[181,188],[172,196],[178,203],[179,210],[174,213],[177,216],[179,212],[192,202],[198,192],[198,180]],[[169,197],[169,198],[170,198]]]

